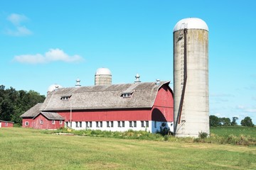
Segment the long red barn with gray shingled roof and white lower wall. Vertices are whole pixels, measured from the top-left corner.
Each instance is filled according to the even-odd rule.
[[[21,117],[29,128],[60,128],[63,120],[76,130],[172,131],[174,98],[169,81],[59,88]]]

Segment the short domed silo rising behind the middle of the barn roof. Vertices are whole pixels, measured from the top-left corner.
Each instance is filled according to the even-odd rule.
[[[110,69],[99,68],[95,72],[95,86],[97,85],[111,85],[112,84],[112,74]]]

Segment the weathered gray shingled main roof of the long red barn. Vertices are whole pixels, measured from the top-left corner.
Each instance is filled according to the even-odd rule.
[[[41,106],[41,111],[68,111],[84,109],[112,108],[151,108],[157,91],[170,81],[137,84],[112,84],[100,86],[81,86],[79,88],[60,88],[50,92]],[[123,98],[123,93],[132,93],[131,98]],[[61,100],[71,96],[69,100]]]

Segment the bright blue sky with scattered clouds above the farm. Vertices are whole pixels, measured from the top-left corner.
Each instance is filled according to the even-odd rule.
[[[0,84],[46,95],[48,86],[173,81],[173,28],[209,28],[210,115],[256,124],[256,1],[0,1]],[[173,84],[171,83],[171,88]]]

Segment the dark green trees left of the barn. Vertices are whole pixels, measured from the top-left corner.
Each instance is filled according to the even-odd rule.
[[[29,108],[41,103],[46,96],[36,91],[16,91],[13,87],[5,89],[0,86],[0,120],[12,121],[21,124],[20,115],[28,111]]]

